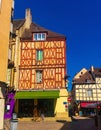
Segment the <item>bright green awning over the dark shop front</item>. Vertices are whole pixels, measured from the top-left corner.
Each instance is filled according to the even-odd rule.
[[[49,99],[59,98],[59,91],[18,91],[15,99]]]

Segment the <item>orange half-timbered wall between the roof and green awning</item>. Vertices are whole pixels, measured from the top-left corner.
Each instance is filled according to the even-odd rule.
[[[66,42],[21,41],[18,89],[61,89],[65,88]],[[37,60],[37,51],[43,58]],[[37,82],[36,71],[42,72],[42,81]]]

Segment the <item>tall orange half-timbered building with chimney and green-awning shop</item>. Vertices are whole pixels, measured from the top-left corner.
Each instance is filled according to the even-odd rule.
[[[30,9],[14,33],[18,117],[67,117],[66,37],[33,23]]]

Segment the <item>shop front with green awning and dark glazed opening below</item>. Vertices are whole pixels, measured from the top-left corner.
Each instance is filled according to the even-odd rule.
[[[16,92],[15,111],[18,117],[53,117],[59,91]]]

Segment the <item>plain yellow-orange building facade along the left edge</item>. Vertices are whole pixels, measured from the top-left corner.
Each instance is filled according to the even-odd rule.
[[[7,68],[10,55],[10,37],[12,34],[13,0],[0,0],[0,129],[3,129],[4,94],[7,87]]]

